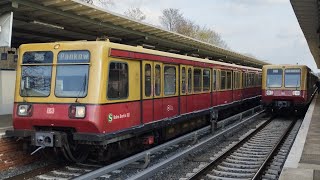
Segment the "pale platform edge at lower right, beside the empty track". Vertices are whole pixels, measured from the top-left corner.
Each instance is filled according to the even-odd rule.
[[[280,180],[320,180],[320,95],[304,117]]]

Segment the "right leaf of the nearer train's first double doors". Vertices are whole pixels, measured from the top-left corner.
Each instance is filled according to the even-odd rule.
[[[154,121],[160,120],[163,118],[163,113],[161,109],[163,109],[163,86],[161,78],[161,74],[163,71],[162,63],[153,63],[154,67],[154,100],[153,100],[153,117]]]

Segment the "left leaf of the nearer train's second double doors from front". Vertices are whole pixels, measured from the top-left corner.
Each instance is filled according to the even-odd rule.
[[[187,67],[180,66],[180,114],[187,112]]]

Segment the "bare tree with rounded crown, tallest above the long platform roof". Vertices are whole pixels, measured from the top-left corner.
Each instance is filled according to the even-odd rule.
[[[160,18],[161,25],[169,31],[177,31],[178,24],[184,21],[183,15],[179,12],[179,9],[164,9]]]

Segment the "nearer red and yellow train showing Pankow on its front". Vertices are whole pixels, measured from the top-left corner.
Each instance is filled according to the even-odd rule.
[[[108,40],[24,44],[17,63],[6,135],[74,162],[159,144],[261,100],[259,68]]]

